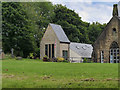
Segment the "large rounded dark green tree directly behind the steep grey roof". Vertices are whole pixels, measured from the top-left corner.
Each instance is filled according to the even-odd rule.
[[[74,11],[61,4],[55,5],[54,23],[60,24],[69,40],[72,42],[88,43],[87,27],[89,23],[83,22]]]

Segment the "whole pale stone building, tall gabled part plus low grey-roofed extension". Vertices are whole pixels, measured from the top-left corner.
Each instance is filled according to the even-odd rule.
[[[40,58],[63,57],[71,62],[82,62],[91,58],[93,47],[90,44],[70,42],[60,25],[49,24],[40,43]]]

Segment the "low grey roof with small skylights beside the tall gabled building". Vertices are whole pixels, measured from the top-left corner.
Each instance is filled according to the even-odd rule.
[[[70,49],[76,52],[83,58],[91,58],[93,47],[91,44],[83,44],[83,43],[70,43]]]

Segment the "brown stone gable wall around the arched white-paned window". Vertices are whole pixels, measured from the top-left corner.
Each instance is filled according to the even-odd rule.
[[[113,28],[116,28],[116,34],[113,33]],[[120,20],[117,16],[114,16],[110,20],[93,45],[93,59],[95,62],[100,62],[100,53],[101,51],[104,51],[104,63],[109,63],[110,46],[114,41],[117,42],[120,47]]]

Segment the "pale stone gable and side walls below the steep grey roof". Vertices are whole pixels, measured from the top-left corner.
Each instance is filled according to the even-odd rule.
[[[62,50],[67,50],[69,54],[69,50],[68,50],[69,44],[60,43],[52,27],[48,25],[46,32],[40,42],[40,58],[41,59],[45,56],[45,44],[55,44],[55,42],[56,42],[56,48],[54,48],[55,57],[62,57]]]

